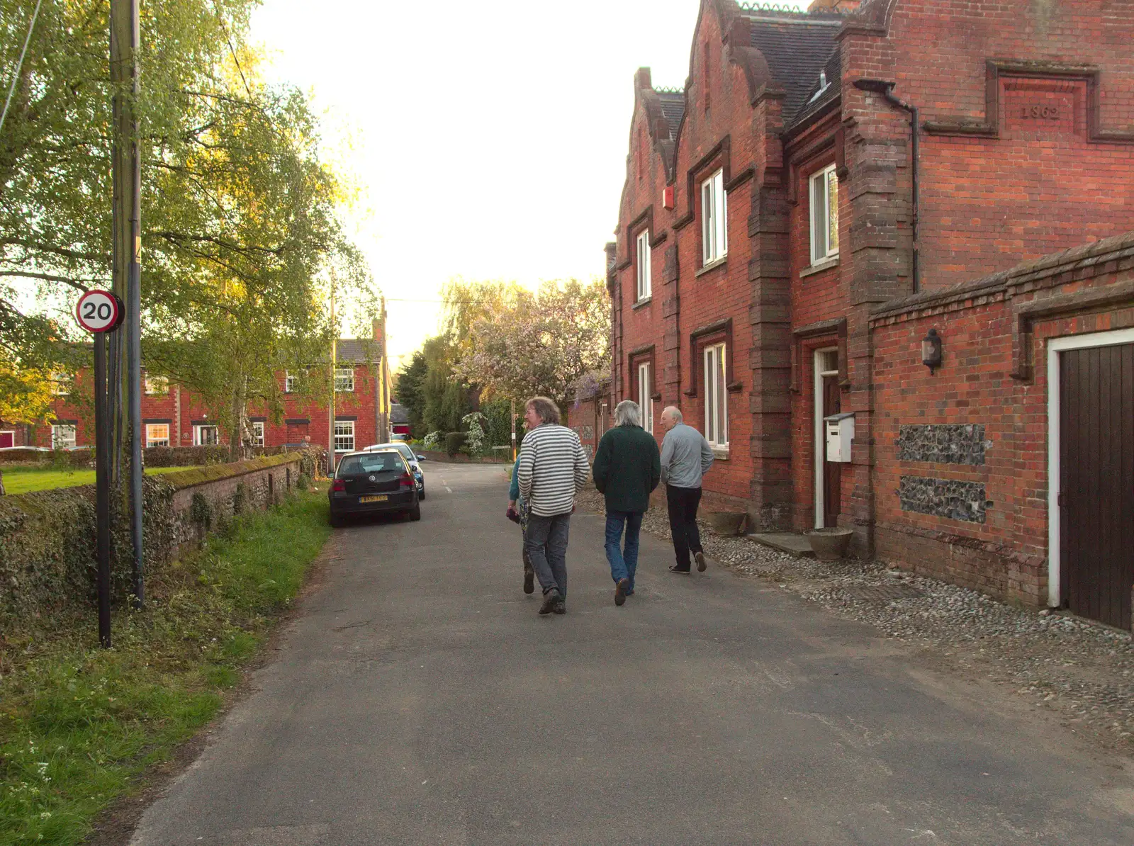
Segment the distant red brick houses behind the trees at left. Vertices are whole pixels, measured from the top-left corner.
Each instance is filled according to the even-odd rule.
[[[340,338],[336,342],[335,369],[335,450],[350,451],[369,443],[389,439],[390,425],[390,370],[383,354],[386,324],[383,319],[373,321],[374,338]],[[77,377],[82,390],[86,374]],[[299,445],[310,435],[315,445],[329,446],[331,439],[331,411],[308,394],[293,391],[294,375],[286,371],[278,374],[284,391],[284,417],[276,423],[249,407],[248,416],[257,447]],[[171,384],[162,378],[144,377],[142,396],[142,425],[144,447],[187,447],[228,443],[230,433],[210,418],[210,409],[200,397]],[[67,392],[67,391],[65,391]],[[213,415],[215,416],[215,415]],[[92,446],[94,431],[90,421],[70,406],[65,398],[56,403],[50,421],[31,428],[6,425],[0,422],[0,434],[6,435],[0,446],[51,446],[67,448]],[[29,431],[32,430],[32,431]],[[10,443],[8,441],[11,441]]]

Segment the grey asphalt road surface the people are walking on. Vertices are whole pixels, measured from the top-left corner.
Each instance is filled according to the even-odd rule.
[[[1129,760],[760,579],[623,608],[572,521],[567,615],[521,591],[499,467],[336,532],[254,692],[137,846],[1134,844]]]

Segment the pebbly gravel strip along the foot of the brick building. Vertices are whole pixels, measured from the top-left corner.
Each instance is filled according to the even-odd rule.
[[[579,505],[601,514],[596,491]],[[700,522],[712,561],[759,576],[841,617],[926,650],[946,667],[1009,685],[1073,731],[1134,753],[1134,643],[1129,634],[1048,611],[1022,610],[966,587],[888,569],[877,561],[795,558],[746,538],[720,538]],[[644,531],[669,538],[662,508]]]

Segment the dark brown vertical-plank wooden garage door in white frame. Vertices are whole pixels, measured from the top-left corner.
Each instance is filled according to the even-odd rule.
[[[1075,614],[1131,627],[1134,344],[1059,356],[1059,559]]]

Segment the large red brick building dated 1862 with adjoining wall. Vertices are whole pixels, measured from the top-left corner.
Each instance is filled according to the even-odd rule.
[[[1065,584],[1048,552],[1049,400],[1063,400],[1030,363],[1064,349],[1046,353],[1046,337],[1110,332],[1101,347],[1127,350],[1107,365],[1125,386],[1108,394],[1111,435],[1134,455],[1118,363],[1134,350],[1120,237],[1134,229],[1132,11],[702,0],[684,90],[634,77],[607,246],[610,407],[638,400],[660,437],[660,409],[680,406],[718,456],[708,507],[746,510],[752,530],[852,526],[858,555],[1033,603],[1078,591],[1102,618],[1082,604],[1084,590],[1103,601],[1097,586]],[[1064,299],[1025,302],[1048,297]],[[1040,328],[1042,315],[1063,322]],[[853,448],[832,462],[824,418],[839,413]],[[1092,518],[1115,538],[1134,526],[1129,463],[1125,517]],[[1125,625],[1129,555],[1114,564]]]

